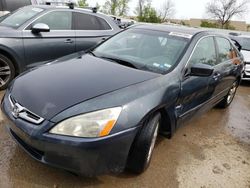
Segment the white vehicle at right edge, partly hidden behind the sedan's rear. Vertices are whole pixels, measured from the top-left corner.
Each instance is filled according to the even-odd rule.
[[[241,53],[245,63],[242,80],[250,80],[250,35],[235,34],[230,35],[230,38],[241,45]]]

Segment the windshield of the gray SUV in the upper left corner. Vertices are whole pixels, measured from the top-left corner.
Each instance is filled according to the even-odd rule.
[[[10,14],[5,19],[3,19],[0,25],[18,28],[24,24],[29,19],[35,17],[37,14],[42,12],[44,9],[34,8],[34,7],[25,7],[17,10],[13,14]]]

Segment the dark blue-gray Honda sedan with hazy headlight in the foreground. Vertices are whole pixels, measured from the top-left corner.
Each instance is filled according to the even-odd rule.
[[[225,36],[138,25],[20,75],[2,110],[13,139],[42,163],[85,176],[141,173],[158,133],[170,138],[191,117],[230,105],[242,68]]]

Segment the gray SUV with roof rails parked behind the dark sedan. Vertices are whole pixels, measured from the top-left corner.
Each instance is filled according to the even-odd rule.
[[[27,68],[87,50],[119,31],[111,17],[91,10],[21,8],[0,22],[0,89]]]

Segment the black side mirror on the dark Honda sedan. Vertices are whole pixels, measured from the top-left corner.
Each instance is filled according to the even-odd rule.
[[[212,66],[198,63],[191,67],[189,75],[208,77],[208,76],[211,76],[213,72],[214,72],[214,69]]]

